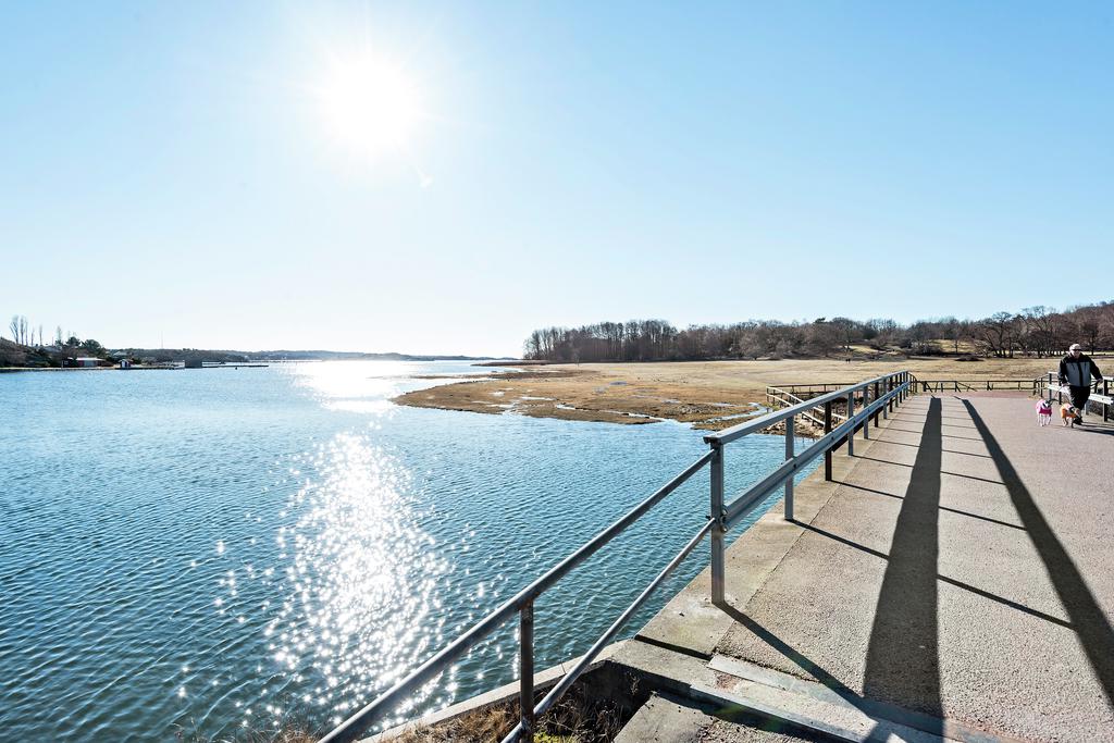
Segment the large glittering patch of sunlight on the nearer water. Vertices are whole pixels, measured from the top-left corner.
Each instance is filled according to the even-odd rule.
[[[312,469],[289,504],[301,517],[276,535],[286,595],[264,632],[295,701],[335,722],[428,654],[422,627],[450,566],[417,526],[409,472],[367,438],[338,434]]]

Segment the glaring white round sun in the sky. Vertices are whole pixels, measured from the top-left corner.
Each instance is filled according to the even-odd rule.
[[[422,120],[421,96],[410,76],[370,55],[334,60],[319,98],[332,136],[369,159],[404,150]]]

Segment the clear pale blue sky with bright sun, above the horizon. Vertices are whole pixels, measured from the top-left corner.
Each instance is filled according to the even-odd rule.
[[[1114,255],[1111,3],[0,16],[4,334],[517,354],[549,324],[1111,299],[1081,270]],[[352,113],[365,59],[394,82]]]

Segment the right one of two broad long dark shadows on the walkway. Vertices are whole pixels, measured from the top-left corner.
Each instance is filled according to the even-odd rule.
[[[960,400],[975,422],[975,428],[986,444],[987,451],[998,468],[998,475],[1009,498],[1022,519],[1022,524],[1033,540],[1037,554],[1044,561],[1053,588],[1072,620],[1072,627],[1079,638],[1079,646],[1098,678],[1106,695],[1106,702],[1114,708],[1114,629],[1111,628],[1102,607],[1095,600],[1079,569],[1075,567],[1064,545],[1056,537],[1044,514],[1033,500],[1033,495],[1022,482],[1017,470],[998,444],[997,439],[983,420],[975,405]]]

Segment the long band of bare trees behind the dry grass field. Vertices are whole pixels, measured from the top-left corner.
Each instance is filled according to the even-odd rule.
[[[664,320],[600,322],[583,327],[536,330],[525,358],[539,361],[697,361],[844,355],[852,346],[878,353],[1053,356],[1072,343],[1088,352],[1114,348],[1114,301],[1057,312],[1026,307],[981,320],[941,317],[902,325],[892,320],[818,317],[784,323],[747,320],[677,330]]]

